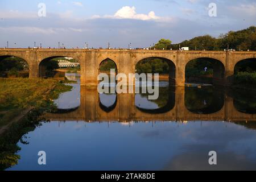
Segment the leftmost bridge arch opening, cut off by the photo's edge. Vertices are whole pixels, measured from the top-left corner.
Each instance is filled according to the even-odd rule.
[[[15,59],[16,58],[16,59]],[[9,59],[9,60],[8,60]],[[9,61],[9,65],[6,65],[6,70],[10,71],[11,68],[15,67],[18,69],[17,71],[23,71],[22,74],[18,73],[18,76],[21,77],[29,77],[30,75],[30,63],[23,56],[15,56],[15,55],[0,55],[0,72],[5,72],[4,68],[5,61]],[[1,65],[2,64],[2,65]],[[2,75],[2,73],[1,73]]]

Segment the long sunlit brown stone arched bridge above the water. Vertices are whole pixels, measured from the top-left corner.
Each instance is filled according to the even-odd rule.
[[[136,64],[149,57],[166,59],[170,65],[170,78],[176,86],[185,85],[185,67],[197,58],[210,58],[216,61],[214,80],[217,84],[227,85],[232,82],[235,65],[242,60],[256,58],[256,52],[232,51],[164,51],[164,50],[126,50],[126,49],[0,49],[1,56],[17,56],[27,61],[30,77],[40,77],[42,61],[54,57],[72,57],[80,61],[81,85],[97,85],[100,64],[106,59],[114,61],[117,72],[135,73]]]

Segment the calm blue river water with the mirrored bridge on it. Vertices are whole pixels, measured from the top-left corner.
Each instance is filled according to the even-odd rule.
[[[7,170],[256,169],[256,93],[214,86],[147,94],[98,94],[66,73],[71,92],[57,113],[19,142],[20,160]],[[46,152],[46,165],[38,152]],[[217,165],[209,164],[216,151]]]

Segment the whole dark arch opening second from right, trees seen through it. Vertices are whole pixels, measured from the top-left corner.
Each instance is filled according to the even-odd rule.
[[[186,61],[185,81],[225,85],[225,63],[213,56],[195,56]]]

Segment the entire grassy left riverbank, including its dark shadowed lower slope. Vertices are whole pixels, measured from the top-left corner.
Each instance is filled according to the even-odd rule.
[[[26,144],[26,135],[40,126],[40,115],[44,111],[56,109],[53,102],[60,93],[67,92],[72,86],[64,85],[53,79],[1,79],[1,125],[8,125],[0,137],[0,171],[18,163],[17,143]],[[11,123],[16,115],[31,108],[19,122]]]

